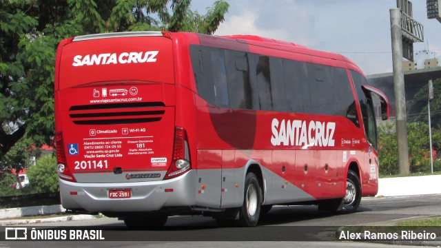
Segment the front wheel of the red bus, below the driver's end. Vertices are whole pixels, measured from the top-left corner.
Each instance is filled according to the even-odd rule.
[[[351,169],[347,171],[346,195],[343,198],[343,211],[353,213],[361,201],[361,185],[357,174]]]

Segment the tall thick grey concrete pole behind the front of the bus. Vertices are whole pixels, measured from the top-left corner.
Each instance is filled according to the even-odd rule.
[[[407,143],[406,94],[402,73],[401,10],[391,9],[391,37],[393,63],[393,92],[395,94],[398,164],[400,174],[409,174],[409,145]]]

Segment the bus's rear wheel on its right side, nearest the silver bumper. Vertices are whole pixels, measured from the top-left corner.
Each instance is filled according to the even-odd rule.
[[[262,205],[262,190],[256,174],[249,172],[245,177],[243,205],[239,212],[239,223],[245,227],[257,225]]]

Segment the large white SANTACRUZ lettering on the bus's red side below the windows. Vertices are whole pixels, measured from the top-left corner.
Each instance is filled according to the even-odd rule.
[[[320,121],[288,120],[278,121],[274,118],[271,123],[272,145],[284,146],[319,146],[333,147],[336,123]]]

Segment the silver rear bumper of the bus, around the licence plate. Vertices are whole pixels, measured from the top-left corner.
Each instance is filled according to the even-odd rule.
[[[91,212],[157,211],[196,203],[196,170],[170,180],[137,183],[72,183],[59,180],[65,209]],[[112,199],[109,189],[132,189],[131,198]]]

